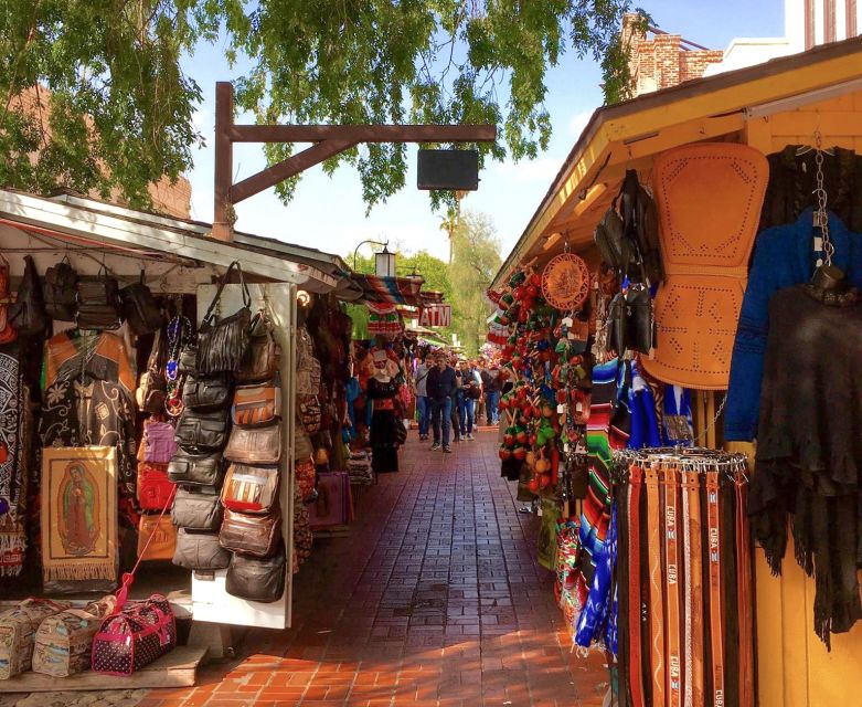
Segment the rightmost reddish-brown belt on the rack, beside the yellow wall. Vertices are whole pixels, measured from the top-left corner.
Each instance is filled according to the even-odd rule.
[[[752,546],[748,527],[747,482],[743,469],[736,487],[736,608],[739,616],[739,707],[754,704],[754,616],[752,612]]]

